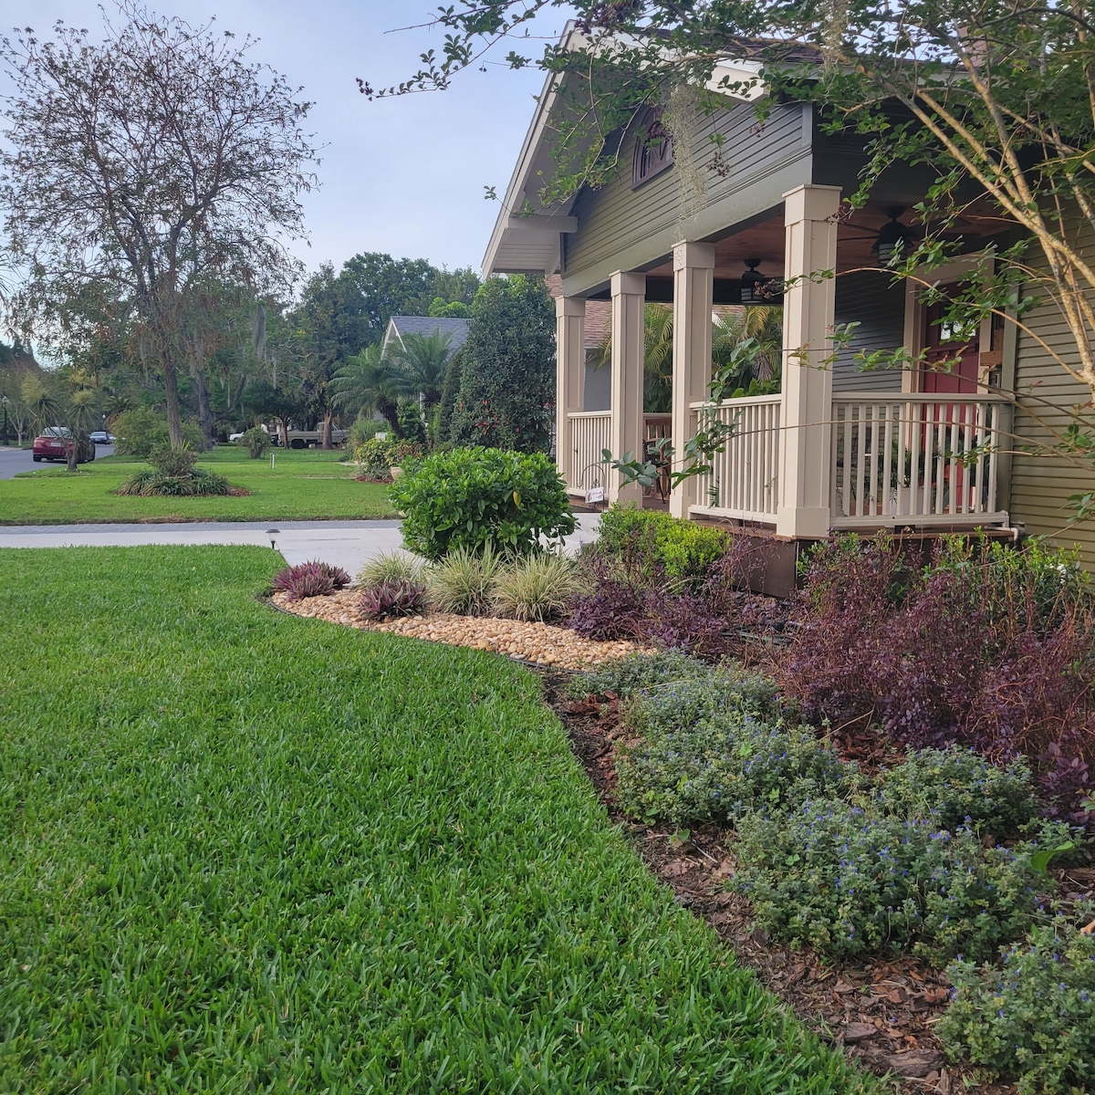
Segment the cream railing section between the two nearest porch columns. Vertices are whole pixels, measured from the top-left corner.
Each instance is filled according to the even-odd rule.
[[[780,395],[727,400],[717,422],[733,429],[710,474],[699,476],[696,515],[745,521],[775,520],[780,477]],[[706,405],[692,404],[693,429]],[[705,414],[710,413],[704,411]]]

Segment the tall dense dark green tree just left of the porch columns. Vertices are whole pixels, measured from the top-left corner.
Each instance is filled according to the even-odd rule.
[[[452,441],[546,449],[555,397],[555,310],[542,279],[491,278],[475,295]]]

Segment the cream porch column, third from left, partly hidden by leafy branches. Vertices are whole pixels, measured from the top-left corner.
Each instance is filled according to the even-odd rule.
[[[711,387],[711,310],[715,291],[715,245],[678,243],[673,247],[673,449],[680,461],[692,435],[691,403],[707,397]],[[684,480],[669,496],[673,517],[688,517],[696,505],[695,479]]]

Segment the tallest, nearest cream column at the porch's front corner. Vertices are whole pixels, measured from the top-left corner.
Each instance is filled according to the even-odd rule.
[[[798,186],[783,195],[784,277],[799,279],[783,299],[783,406],[780,505],[775,531],[784,537],[829,534],[832,476],[832,277],[808,275],[837,266],[839,186]]]

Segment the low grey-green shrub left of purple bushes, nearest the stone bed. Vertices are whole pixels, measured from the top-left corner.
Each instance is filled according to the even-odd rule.
[[[627,712],[633,737],[616,759],[622,809],[687,826],[841,794],[854,766],[779,712],[763,677],[712,673],[644,694]]]

